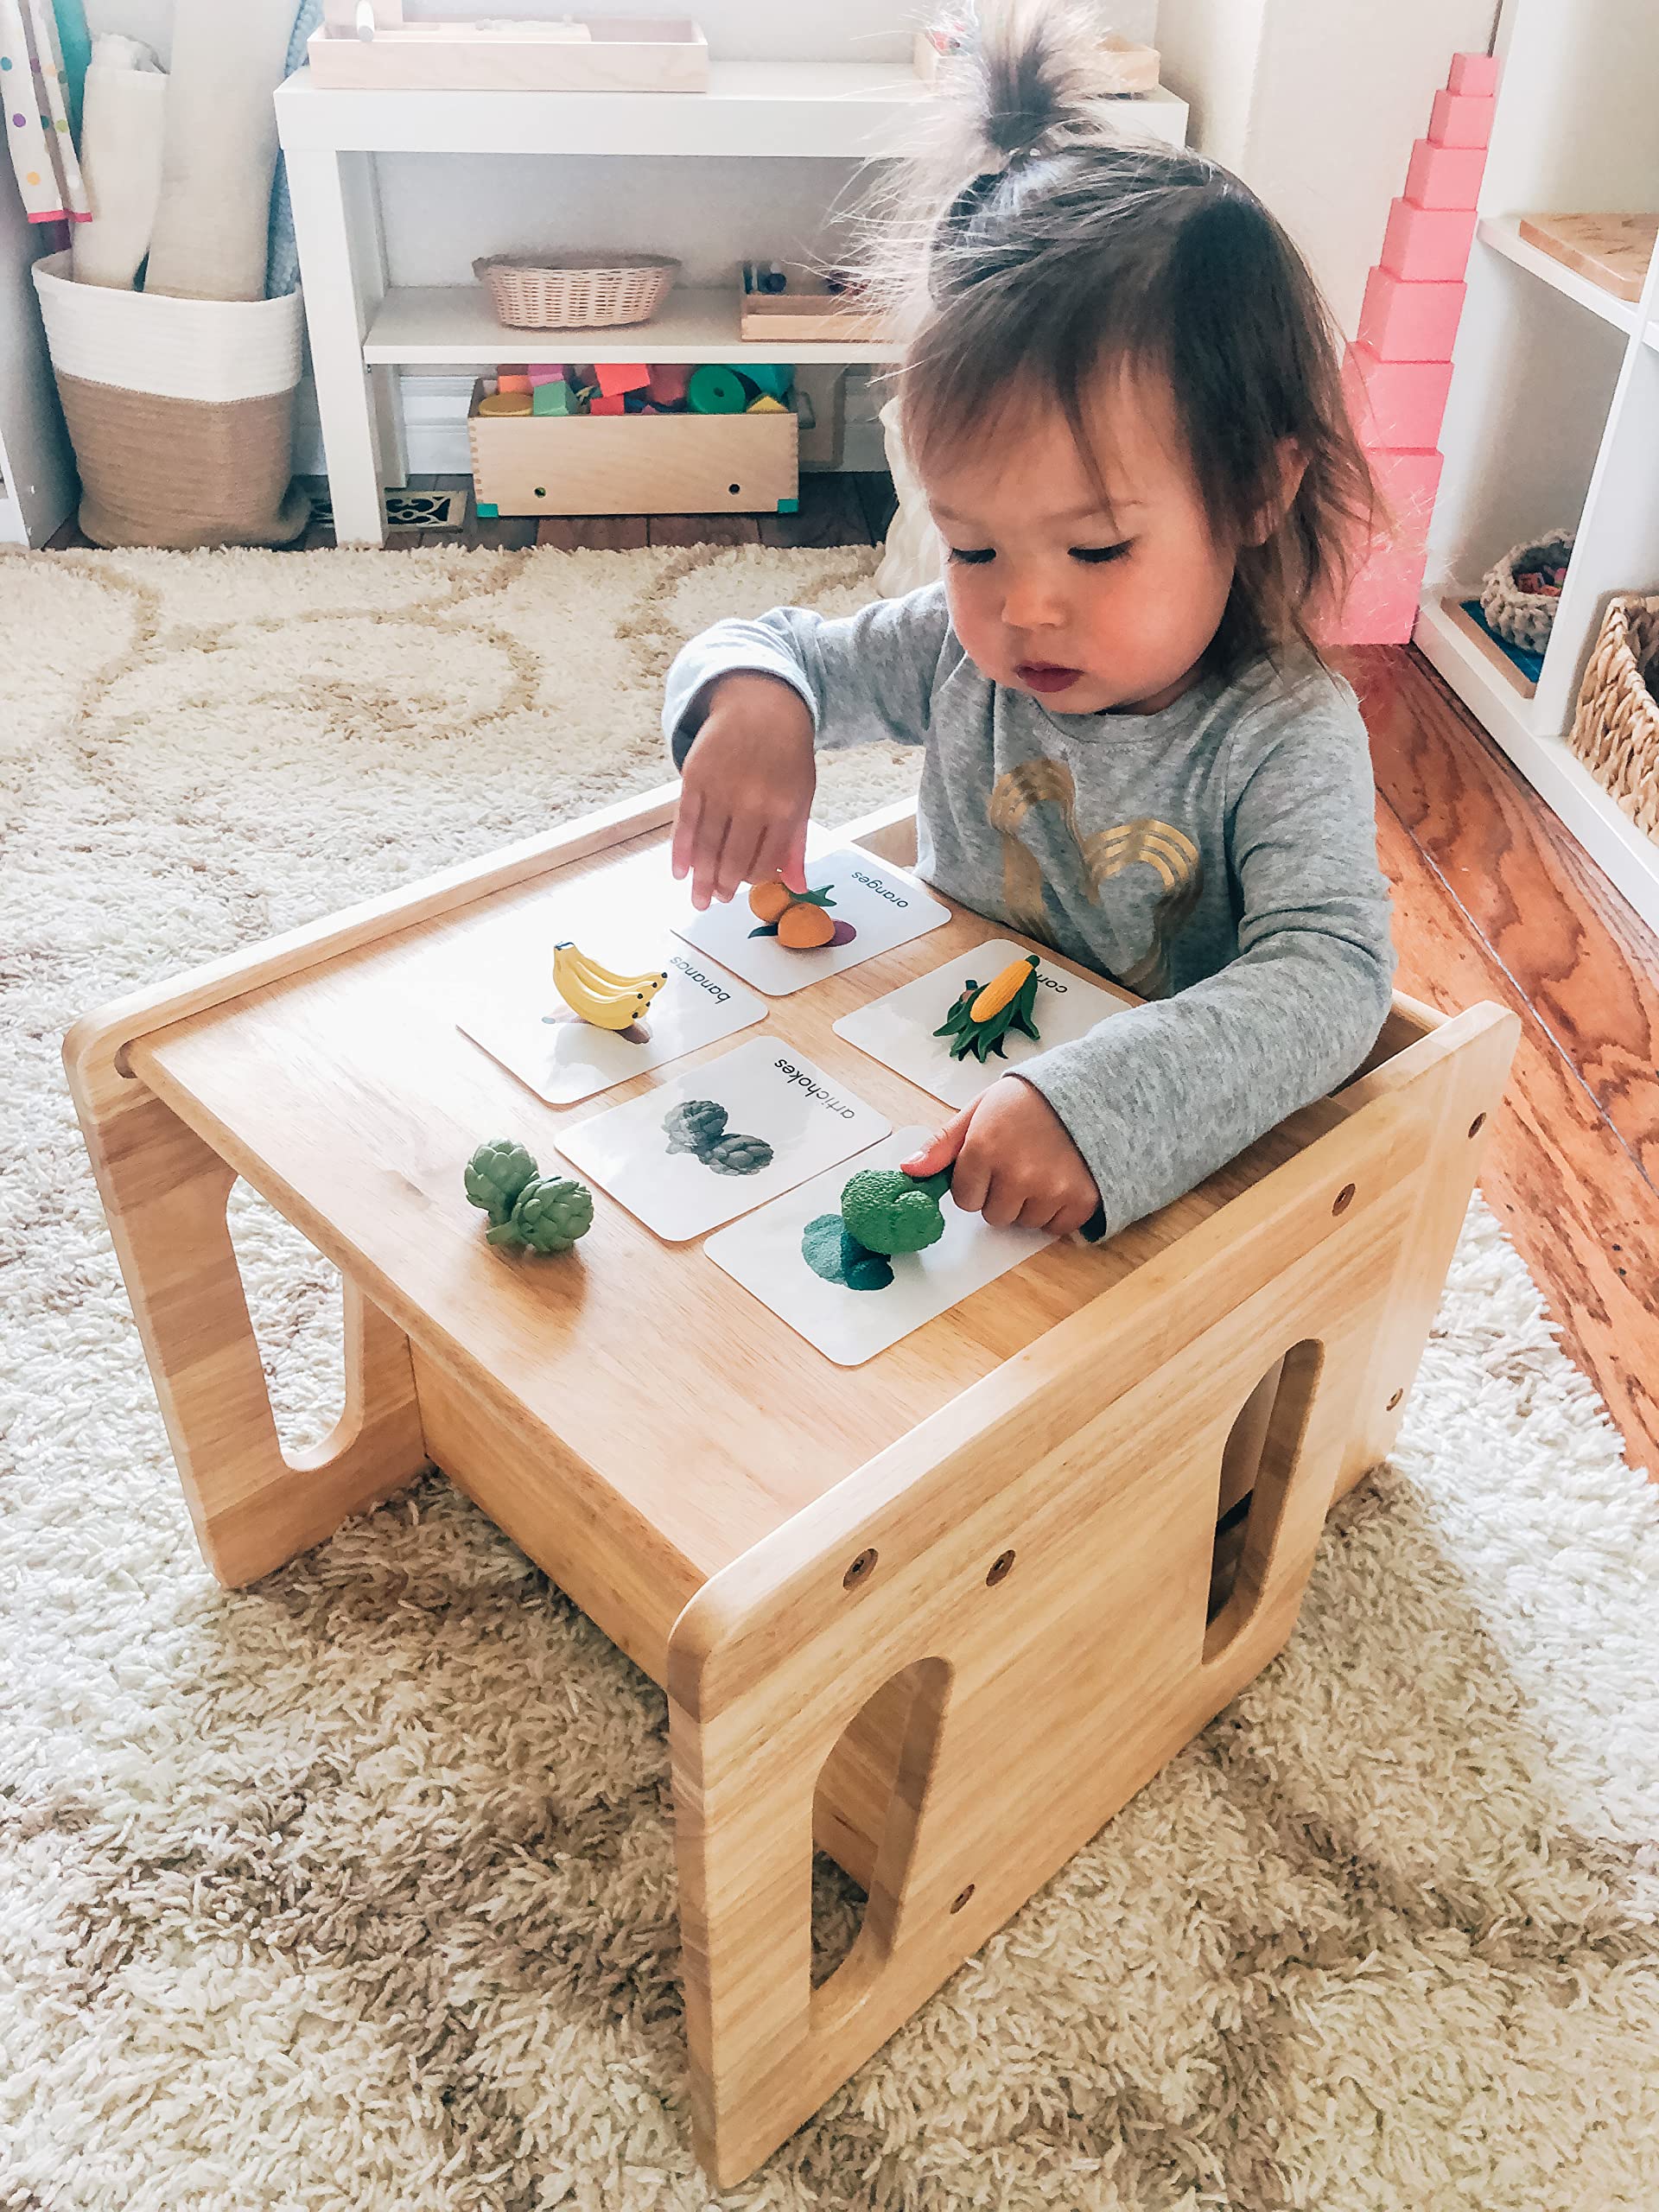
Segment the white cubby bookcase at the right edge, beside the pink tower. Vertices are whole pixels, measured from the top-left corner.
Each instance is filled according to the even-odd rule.
[[[1617,591],[1659,591],[1659,254],[1621,301],[1520,237],[1522,215],[1659,210],[1659,7],[1506,0],[1416,644],[1659,929],[1659,845],[1566,743]],[[1577,529],[1537,684],[1460,611],[1526,538]]]

